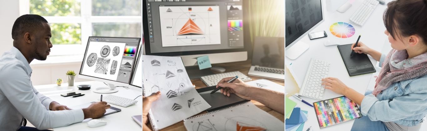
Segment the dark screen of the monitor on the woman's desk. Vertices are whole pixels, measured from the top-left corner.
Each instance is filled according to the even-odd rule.
[[[321,0],[286,0],[285,2],[285,43],[288,48],[322,22],[323,15]]]

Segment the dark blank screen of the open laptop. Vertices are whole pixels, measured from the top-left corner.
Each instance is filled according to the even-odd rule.
[[[283,37],[256,37],[252,65],[285,69],[285,52]]]

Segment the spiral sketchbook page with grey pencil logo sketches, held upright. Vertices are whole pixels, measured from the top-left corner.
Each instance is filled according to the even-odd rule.
[[[153,130],[166,128],[211,108],[193,87],[181,57],[142,55],[142,67],[143,96],[161,92],[149,111]]]

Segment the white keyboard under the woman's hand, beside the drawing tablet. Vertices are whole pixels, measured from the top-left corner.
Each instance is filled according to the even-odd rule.
[[[305,74],[302,87],[299,90],[299,96],[323,100],[325,86],[322,85],[322,79],[328,77],[329,69],[329,62],[312,58],[308,66],[307,74]]]

